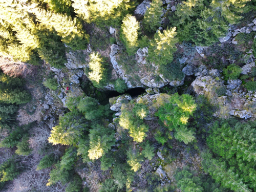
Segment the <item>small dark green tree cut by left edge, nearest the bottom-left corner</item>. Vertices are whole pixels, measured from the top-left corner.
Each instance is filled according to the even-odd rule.
[[[11,157],[0,166],[0,182],[12,181],[19,173],[18,165],[14,157]]]

